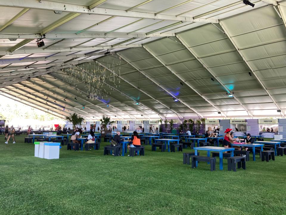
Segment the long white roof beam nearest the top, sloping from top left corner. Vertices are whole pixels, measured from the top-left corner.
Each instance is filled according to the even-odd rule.
[[[163,15],[146,12],[137,11],[126,11],[117,9],[108,9],[96,7],[92,10],[88,6],[77,5],[77,4],[67,4],[53,1],[42,0],[41,3],[34,0],[0,0],[0,6],[4,7],[21,7],[21,8],[32,8],[32,9],[42,9],[42,10],[62,10],[65,12],[73,13],[86,13],[86,14],[98,14],[105,16],[123,16],[123,17],[134,17],[134,18],[146,18],[146,19],[164,19],[164,20],[174,20],[174,21],[198,21],[198,22],[210,22],[218,23],[218,19],[193,19],[187,16],[174,16],[174,15]]]

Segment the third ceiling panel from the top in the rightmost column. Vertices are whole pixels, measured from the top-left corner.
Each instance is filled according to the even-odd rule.
[[[286,41],[241,50],[246,60],[256,60],[286,54]]]

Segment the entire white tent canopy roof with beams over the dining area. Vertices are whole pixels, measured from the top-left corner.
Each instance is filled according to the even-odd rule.
[[[251,2],[0,0],[0,92],[61,118],[284,116],[286,2]]]

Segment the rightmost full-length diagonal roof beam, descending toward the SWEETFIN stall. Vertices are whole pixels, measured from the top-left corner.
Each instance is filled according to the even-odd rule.
[[[239,55],[241,56],[241,58],[243,59],[243,61],[245,62],[245,64],[249,67],[249,69],[251,70],[251,72],[253,73],[253,75],[255,76],[255,78],[257,79],[257,81],[259,82],[259,84],[262,86],[262,88],[265,90],[265,92],[268,94],[268,96],[270,97],[270,99],[273,101],[273,103],[276,105],[276,107],[281,110],[281,107],[276,103],[275,99],[271,96],[271,94],[269,93],[269,91],[266,89],[266,87],[264,86],[264,84],[262,83],[262,81],[260,80],[259,76],[256,74],[256,72],[254,71],[254,69],[251,67],[251,65],[248,63],[248,61],[246,60],[246,58],[243,56],[243,54],[241,53],[241,51],[239,50],[239,48],[237,47],[237,44],[234,42],[234,40],[231,38],[229,32],[227,31],[226,27],[223,25],[223,23],[220,22],[220,26],[222,27],[224,33],[228,36],[230,42],[233,44],[233,46],[235,47],[235,49],[237,50],[237,52],[239,53]],[[283,112],[282,112],[283,113]],[[283,114],[284,115],[284,114]]]

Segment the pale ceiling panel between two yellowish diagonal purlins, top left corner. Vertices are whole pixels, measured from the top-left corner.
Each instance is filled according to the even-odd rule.
[[[10,33],[40,33],[45,27],[59,20],[68,13],[55,14],[52,10],[30,9],[2,32]]]

